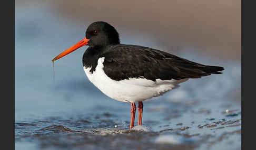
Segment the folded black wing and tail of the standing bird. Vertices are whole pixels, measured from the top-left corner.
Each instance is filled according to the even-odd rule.
[[[114,45],[101,57],[105,57],[104,72],[113,80],[146,78],[171,80],[201,78],[211,73],[221,74],[223,67],[205,66],[170,53],[134,45]]]

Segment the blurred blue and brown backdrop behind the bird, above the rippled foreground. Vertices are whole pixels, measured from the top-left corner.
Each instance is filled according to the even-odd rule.
[[[241,1],[16,0],[15,123],[105,112],[118,112],[121,122],[130,120],[129,103],[106,97],[85,76],[82,56],[87,47],[56,61],[53,80],[51,60],[84,38],[88,25],[96,21],[113,25],[122,44],[225,68],[220,75],[190,79],[179,90],[155,98],[157,102],[145,101],[149,108],[144,121],[150,119],[146,113],[152,112],[151,106],[165,103],[219,100],[241,107]],[[24,131],[15,129],[18,133]]]

